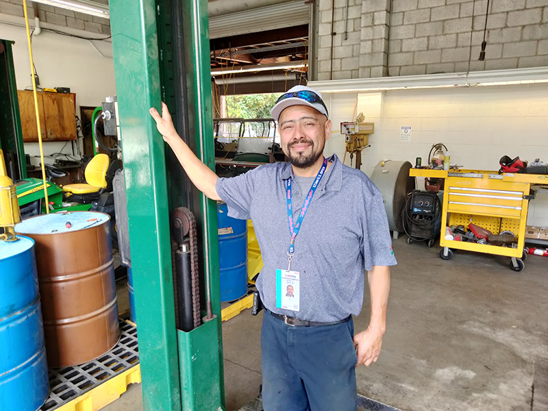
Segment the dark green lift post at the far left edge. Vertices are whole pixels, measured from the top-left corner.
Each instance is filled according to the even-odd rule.
[[[7,151],[13,153],[14,160],[16,160],[15,168],[18,175],[11,177],[25,179],[27,178],[27,166],[25,165],[23,130],[21,129],[21,116],[19,116],[12,44],[13,42],[10,40],[0,40],[0,149],[4,153]]]

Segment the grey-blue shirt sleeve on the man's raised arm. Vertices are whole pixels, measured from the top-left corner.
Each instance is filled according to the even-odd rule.
[[[229,217],[240,220],[250,218],[256,171],[257,169],[253,169],[236,177],[221,177],[217,180],[215,188],[219,197],[227,204]]]

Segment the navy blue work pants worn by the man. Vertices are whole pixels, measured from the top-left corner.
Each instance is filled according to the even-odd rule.
[[[352,319],[293,327],[264,310],[261,331],[264,411],[356,411],[358,362]]]

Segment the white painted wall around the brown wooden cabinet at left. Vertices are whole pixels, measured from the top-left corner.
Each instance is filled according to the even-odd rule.
[[[0,38],[14,40],[15,76],[18,90],[32,87],[29,49],[23,18],[0,16]],[[21,25],[23,23],[23,25]],[[51,25],[50,25],[51,27]],[[67,27],[60,27],[67,31]],[[98,37],[97,34],[78,31],[80,36]],[[40,76],[40,86],[47,88],[70,87],[76,93],[76,115],[79,105],[99,106],[105,97],[116,94],[114,86],[114,61],[112,43],[95,41],[95,47],[88,40],[42,32],[32,38],[34,64]],[[103,54],[103,55],[101,55]],[[65,142],[44,142],[45,155],[57,153]],[[63,153],[72,155],[71,143]],[[25,143],[25,153],[39,155],[38,143]],[[39,158],[32,158],[38,164]],[[53,159],[45,159],[51,163]]]

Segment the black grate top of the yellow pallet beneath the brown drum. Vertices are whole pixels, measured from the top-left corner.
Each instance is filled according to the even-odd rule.
[[[77,366],[49,369],[50,393],[41,411],[60,408],[139,362],[137,329],[120,321],[120,341],[103,356]]]

